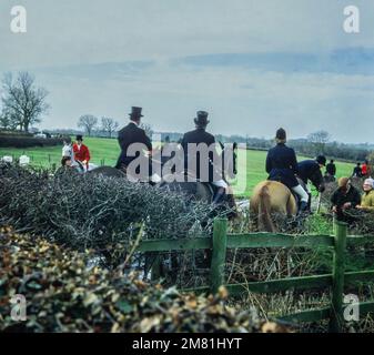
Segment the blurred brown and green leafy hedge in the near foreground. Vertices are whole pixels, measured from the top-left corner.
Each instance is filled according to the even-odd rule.
[[[216,296],[181,294],[135,274],[85,267],[77,251],[0,227],[0,332],[282,332]],[[22,294],[27,321],[11,318]]]

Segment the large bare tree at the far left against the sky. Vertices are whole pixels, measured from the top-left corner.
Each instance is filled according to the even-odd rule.
[[[48,91],[34,85],[34,77],[28,72],[19,72],[16,80],[7,73],[2,80],[2,115],[28,132],[30,125],[41,122],[41,115],[50,108],[46,103]]]

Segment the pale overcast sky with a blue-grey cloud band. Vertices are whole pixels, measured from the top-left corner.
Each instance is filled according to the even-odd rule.
[[[28,32],[10,31],[10,10]],[[361,32],[343,31],[343,9]],[[81,114],[184,132],[196,110],[213,133],[292,138],[327,130],[374,142],[374,3],[341,0],[1,0],[0,74],[28,70],[49,90],[43,128]]]

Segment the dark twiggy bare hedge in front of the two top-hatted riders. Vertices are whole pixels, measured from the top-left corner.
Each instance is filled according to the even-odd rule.
[[[0,220],[84,250],[144,237],[206,233],[212,206],[122,178],[0,165]]]

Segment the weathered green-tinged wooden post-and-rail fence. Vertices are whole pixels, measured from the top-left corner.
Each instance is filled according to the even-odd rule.
[[[291,315],[280,315],[277,318],[291,322],[316,322],[330,320],[330,331],[341,332],[344,320],[343,292],[345,286],[356,286],[361,283],[374,282],[374,270],[345,272],[346,244],[363,245],[367,242],[364,236],[347,236],[344,223],[335,224],[334,235],[290,235],[274,233],[228,234],[228,221],[216,219],[213,226],[213,237],[195,237],[181,240],[150,240],[143,241],[139,252],[170,252],[189,250],[211,250],[210,285],[189,291],[215,293],[224,285],[224,266],[226,248],[257,248],[257,247],[328,247],[333,251],[332,274],[303,277],[286,277],[264,282],[249,282],[244,284],[226,284],[232,295],[241,293],[277,293],[287,290],[331,288],[331,305],[328,307],[307,310]],[[352,306],[352,305],[351,305]],[[355,306],[355,305],[353,305]],[[360,315],[374,312],[374,302],[360,303]]]

